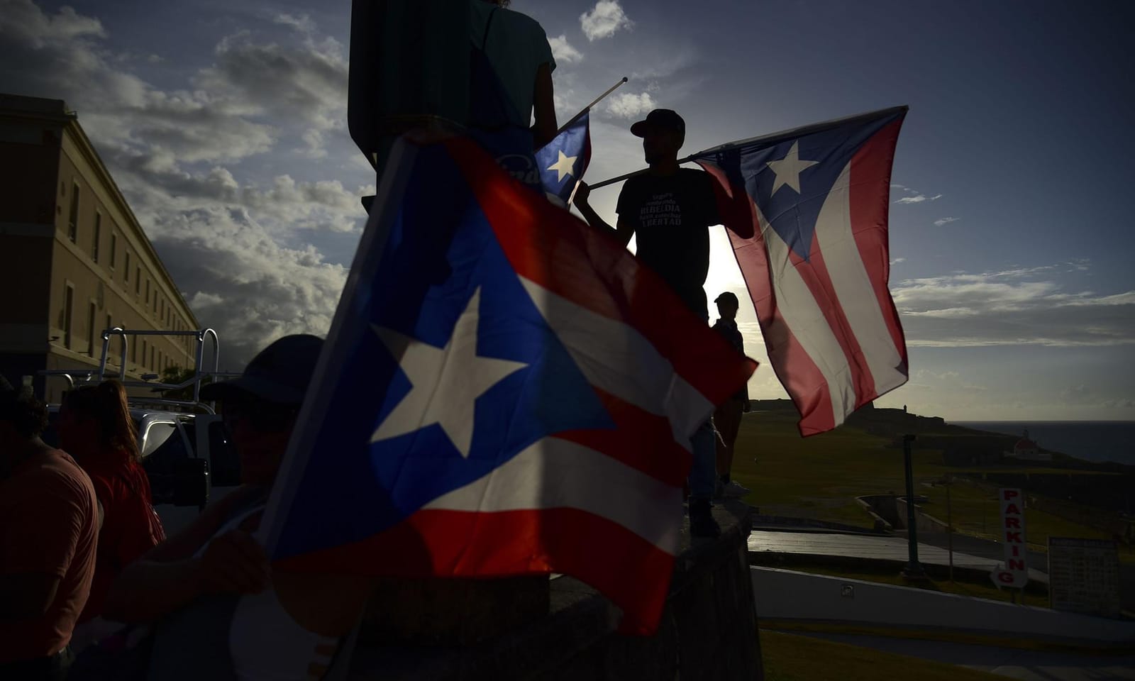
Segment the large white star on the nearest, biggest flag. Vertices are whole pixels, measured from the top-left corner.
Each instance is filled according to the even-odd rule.
[[[410,379],[410,392],[382,420],[370,442],[389,439],[437,423],[462,456],[473,443],[477,398],[528,364],[477,354],[481,289],[469,299],[445,347],[371,325]]]

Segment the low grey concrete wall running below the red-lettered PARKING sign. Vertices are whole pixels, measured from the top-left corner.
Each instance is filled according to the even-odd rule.
[[[750,574],[764,621],[948,630],[1093,647],[1135,645],[1135,622],[774,568],[750,568]]]

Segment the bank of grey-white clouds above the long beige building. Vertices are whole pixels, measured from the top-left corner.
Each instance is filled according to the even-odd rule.
[[[358,153],[320,160],[354,151],[345,50],[306,16],[263,20],[292,31],[277,42],[218,35],[212,64],[158,87],[98,18],[0,0],[3,90],[78,112],[197,319],[220,331],[229,368],[279,335],[327,331],[346,267],[325,253],[350,257],[359,196],[373,192],[344,183],[373,178]],[[308,160],[266,175],[294,163],[281,151]]]

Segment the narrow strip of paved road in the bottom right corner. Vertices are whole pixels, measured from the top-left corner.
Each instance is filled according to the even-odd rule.
[[[788,633],[788,632],[785,632]],[[800,632],[829,641],[874,648],[884,653],[935,659],[1022,681],[1130,681],[1135,655],[1076,655],[1041,653],[968,644],[922,641],[881,636]]]

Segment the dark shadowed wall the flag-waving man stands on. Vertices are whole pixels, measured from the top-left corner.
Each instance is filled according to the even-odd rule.
[[[721,539],[691,546],[682,532],[684,546],[654,636],[619,634],[617,608],[595,589],[562,577],[550,585],[550,612],[471,645],[396,644],[364,627],[350,679],[759,681],[764,669],[748,566],[748,506],[726,502],[714,516]],[[372,600],[369,616],[405,617],[404,604],[395,612],[388,606]]]

